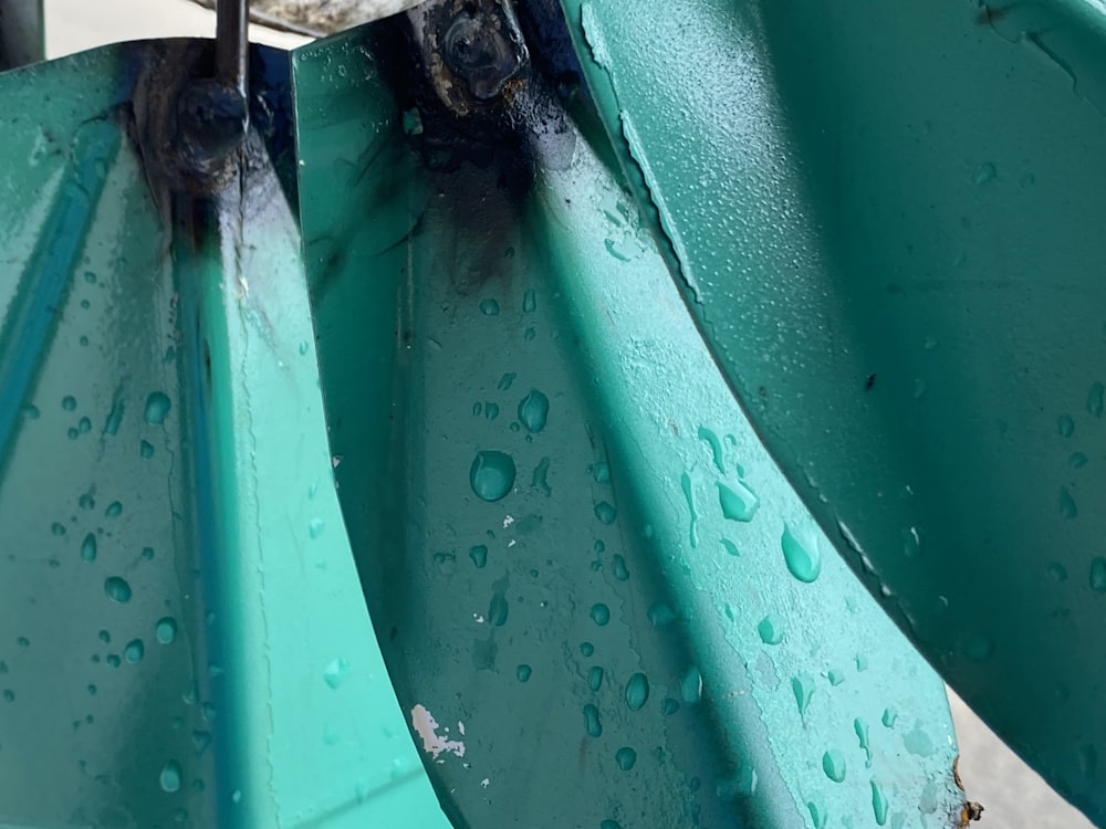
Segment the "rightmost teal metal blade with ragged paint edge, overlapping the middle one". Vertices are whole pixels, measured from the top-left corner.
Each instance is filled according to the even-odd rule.
[[[1106,21],[564,0],[692,314],[853,570],[1106,820]]]

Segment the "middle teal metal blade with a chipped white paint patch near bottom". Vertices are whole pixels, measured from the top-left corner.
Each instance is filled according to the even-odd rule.
[[[346,527],[453,825],[959,826],[939,679],[633,197],[540,77],[467,156],[396,43],[294,53],[300,216]]]

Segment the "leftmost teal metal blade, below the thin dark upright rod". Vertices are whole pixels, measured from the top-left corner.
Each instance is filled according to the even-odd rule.
[[[0,75],[0,823],[444,825],[334,493],[286,55],[167,223],[135,80],[181,49]]]

